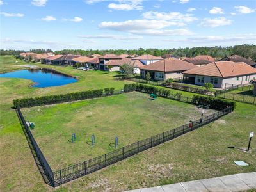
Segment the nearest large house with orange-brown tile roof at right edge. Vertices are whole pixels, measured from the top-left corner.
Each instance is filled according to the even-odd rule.
[[[244,62],[216,61],[183,72],[185,83],[204,86],[209,82],[215,88],[225,88],[225,84],[248,84],[252,79],[256,79],[256,68]]]

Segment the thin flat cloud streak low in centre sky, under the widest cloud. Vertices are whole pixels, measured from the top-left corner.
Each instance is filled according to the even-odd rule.
[[[80,35],[81,38],[88,39],[114,39],[114,40],[138,40],[142,36],[122,36],[122,35]]]

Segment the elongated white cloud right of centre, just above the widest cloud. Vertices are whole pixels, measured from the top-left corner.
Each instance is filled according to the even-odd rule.
[[[177,26],[184,26],[188,22],[198,20],[192,14],[182,14],[180,12],[145,12],[143,13],[143,17],[154,20],[172,20],[172,22],[177,23]]]

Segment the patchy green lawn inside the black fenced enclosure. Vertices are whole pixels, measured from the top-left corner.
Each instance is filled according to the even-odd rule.
[[[53,170],[65,168],[200,118],[200,109],[175,100],[148,99],[148,94],[125,93],[99,99],[22,109]],[[214,113],[208,109],[205,115]],[[76,142],[68,142],[72,133]],[[96,145],[86,144],[95,134]],[[91,143],[90,143],[91,144]],[[63,152],[65,151],[65,152]]]

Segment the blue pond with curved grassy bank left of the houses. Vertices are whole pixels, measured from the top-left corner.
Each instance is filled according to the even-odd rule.
[[[0,77],[30,79],[31,81],[35,82],[33,87],[39,88],[61,86],[77,81],[77,79],[74,77],[60,74],[59,72],[45,68],[17,70],[14,72],[0,74]]]

